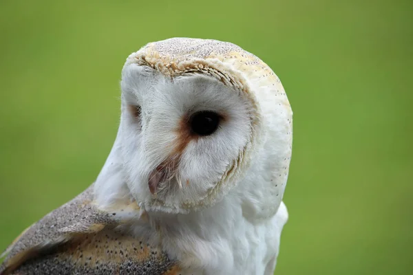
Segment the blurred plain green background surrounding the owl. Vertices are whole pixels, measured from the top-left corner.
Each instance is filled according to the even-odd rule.
[[[0,250],[94,181],[120,70],[150,41],[231,41],[294,111],[276,274],[413,274],[412,1],[0,1]]]

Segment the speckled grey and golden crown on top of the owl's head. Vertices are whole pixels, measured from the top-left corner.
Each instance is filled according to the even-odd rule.
[[[215,71],[212,75],[218,80],[250,93],[255,91],[248,91],[251,83],[246,81],[254,80],[260,86],[269,86],[290,109],[284,87],[273,70],[260,58],[233,43],[213,39],[167,39],[142,47],[127,58],[126,64],[136,62],[171,77],[191,72],[206,74],[212,69]]]

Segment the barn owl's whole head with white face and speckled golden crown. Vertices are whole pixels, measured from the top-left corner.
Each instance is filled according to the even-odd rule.
[[[100,204],[130,197],[147,211],[187,213],[244,196],[251,211],[276,211],[292,111],[268,65],[231,43],[167,39],[127,58],[121,89]]]

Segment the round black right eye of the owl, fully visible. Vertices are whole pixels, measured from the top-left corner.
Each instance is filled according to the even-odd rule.
[[[213,111],[199,111],[190,120],[191,131],[198,135],[211,135],[220,125],[220,115]]]

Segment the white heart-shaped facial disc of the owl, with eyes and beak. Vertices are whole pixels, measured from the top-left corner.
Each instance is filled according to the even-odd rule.
[[[209,196],[251,140],[251,101],[201,74],[124,68],[120,129],[127,186],[145,208],[180,210]]]

